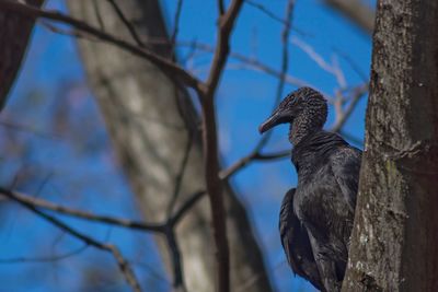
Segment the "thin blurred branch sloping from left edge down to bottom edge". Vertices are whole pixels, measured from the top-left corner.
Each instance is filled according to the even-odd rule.
[[[79,241],[83,242],[85,245],[90,245],[97,249],[111,253],[113,255],[113,257],[116,259],[118,268],[120,269],[122,273],[125,277],[126,282],[130,285],[132,291],[136,291],[136,292],[141,291],[141,288],[138,283],[138,280],[137,280],[134,271],[131,270],[129,264],[124,259],[124,257],[122,256],[120,252],[118,250],[118,248],[116,246],[111,245],[111,244],[101,243],[101,242],[72,229],[71,226],[67,225],[66,223],[56,219],[55,217],[46,214],[45,212],[38,210],[37,208],[35,208],[35,206],[27,202],[26,200],[22,200],[20,197],[16,197],[13,191],[10,191],[10,190],[3,189],[3,188],[1,188],[0,191],[8,198],[22,205],[27,210],[32,211],[33,213],[37,214],[38,217],[43,218],[44,220],[50,222],[55,226],[59,227],[60,230],[65,231],[66,233],[70,234],[71,236],[78,238]]]

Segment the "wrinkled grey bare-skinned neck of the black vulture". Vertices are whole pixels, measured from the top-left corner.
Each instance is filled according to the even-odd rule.
[[[296,147],[306,136],[321,130],[321,120],[313,118],[312,115],[303,113],[290,122],[289,141]]]

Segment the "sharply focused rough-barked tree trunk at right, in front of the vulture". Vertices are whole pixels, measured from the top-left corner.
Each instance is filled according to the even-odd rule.
[[[438,291],[438,2],[378,2],[343,291]]]

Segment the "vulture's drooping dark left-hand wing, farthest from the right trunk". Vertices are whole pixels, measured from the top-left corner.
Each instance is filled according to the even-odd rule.
[[[281,203],[279,230],[283,248],[292,271],[321,290],[323,285],[309,235],[293,211],[293,195],[295,188],[286,194]]]

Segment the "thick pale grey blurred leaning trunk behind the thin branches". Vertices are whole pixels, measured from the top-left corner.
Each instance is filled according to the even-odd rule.
[[[132,39],[108,1],[69,0],[71,13],[125,39]],[[118,1],[145,42],[147,37],[166,38],[159,1]],[[134,40],[132,40],[134,42]],[[193,148],[181,184],[177,203],[205,189],[198,121],[186,92],[148,61],[99,42],[80,42],[90,85],[113,138],[119,161],[149,221],[163,221],[174,192],[189,132]],[[163,46],[152,47],[169,56]],[[250,279],[246,291],[270,291],[261,250],[243,206],[227,188],[228,235],[231,255],[231,287],[235,290]],[[210,212],[205,197],[177,227],[183,255],[184,279],[188,291],[215,291],[215,255]],[[158,238],[168,267],[168,246]]]

